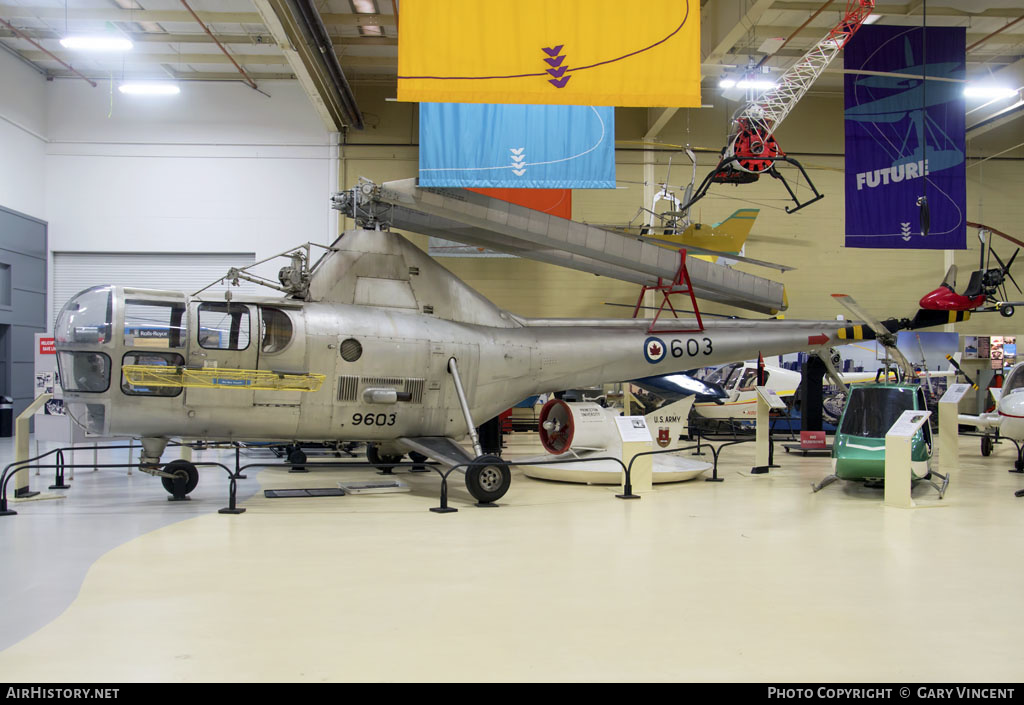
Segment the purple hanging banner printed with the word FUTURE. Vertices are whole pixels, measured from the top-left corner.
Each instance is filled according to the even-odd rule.
[[[847,71],[963,79],[967,31],[871,25],[847,44]],[[847,74],[846,246],[967,248],[964,84]],[[923,234],[919,199],[930,215]]]

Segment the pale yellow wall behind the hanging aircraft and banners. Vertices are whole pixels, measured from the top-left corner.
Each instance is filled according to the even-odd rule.
[[[375,181],[416,176],[419,126],[417,111],[411,106],[385,101],[390,89],[359,86],[356,96],[368,114],[371,127],[347,136],[340,180],[353,185],[359,176]],[[697,180],[717,162],[724,143],[729,116],[735,103],[709,96],[716,107],[681,110],[666,126],[658,139],[668,144],[689,143],[702,148],[698,154]],[[794,214],[781,183],[765,177],[739,186],[714,185],[695,207],[702,222],[717,222],[737,208],[756,207],[761,214],[746,249],[751,257],[796,266],[780,275],[775,271],[742,265],[749,272],[779,278],[790,297],[788,318],[833,319],[845,313],[830,298],[831,293],[852,295],[879,318],[909,317],[918,299],[939,285],[945,274],[943,252],[931,250],[869,250],[844,247],[843,122],[842,95],[818,94],[805,97],[782,125],[777,138],[791,155],[808,169],[825,198]],[[639,148],[649,116],[644,110],[620,109],[615,113],[615,191],[575,191],[573,217],[594,223],[625,224],[643,204],[644,153]],[[968,144],[969,158],[995,154],[1015,144],[1018,132],[1011,123]],[[666,177],[670,156],[672,182],[679,186],[689,178],[688,160],[680,153],[654,156],[655,181]],[[1024,162],[1020,149],[1001,158],[979,164],[968,162],[968,219],[981,221],[1024,239]],[[1016,157],[1016,159],[1013,159]],[[786,172],[788,177],[792,169]],[[793,176],[797,178],[796,174]],[[801,188],[802,197],[810,193]],[[682,195],[682,189],[677,189]],[[962,289],[978,262],[976,231],[968,231],[968,250],[955,254]],[[425,238],[411,236],[421,247]],[[998,241],[996,250],[1004,259],[1014,246]],[[516,314],[530,317],[617,318],[630,309],[604,305],[605,302],[633,303],[639,292],[635,285],[582,274],[524,259],[442,258],[441,263],[470,286]],[[1024,255],[1021,257],[1024,261]],[[1015,272],[1024,285],[1024,266]],[[1016,290],[1014,290],[1016,293]],[[1024,294],[1021,295],[1024,300]],[[726,310],[706,304],[702,309]],[[1020,323],[1021,325],[1018,325]],[[996,314],[978,315],[957,327],[961,333],[1013,335],[1024,331],[1024,309],[1005,319]]]

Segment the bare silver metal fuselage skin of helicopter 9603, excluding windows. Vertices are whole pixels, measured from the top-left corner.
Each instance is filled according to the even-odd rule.
[[[245,350],[210,350],[197,344],[196,301],[188,305],[185,365],[315,371],[328,379],[315,392],[185,389],[173,398],[129,396],[119,383],[126,346],[120,331],[108,346],[112,383],[102,393],[66,393],[69,402],[104,404],[106,432],[211,440],[385,441],[402,437],[461,438],[467,429],[447,361],[455,358],[473,418],[479,423],[530,395],[624,381],[717,365],[761,351],[778,355],[820,345],[809,336],[831,334],[829,322],[717,322],[701,333],[649,335],[622,322],[593,325],[496,328],[438,320],[424,314],[337,303],[291,302],[295,335],[275,355],[259,349],[256,325],[266,299],[236,299],[253,322]],[[272,300],[269,302],[272,305]],[[120,325],[120,324],[119,324]],[[829,330],[829,327],[831,330]],[[341,356],[356,340],[357,360]],[[368,388],[413,388],[413,399],[366,401]]]

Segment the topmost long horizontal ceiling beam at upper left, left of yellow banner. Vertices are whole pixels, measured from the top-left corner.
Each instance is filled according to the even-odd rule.
[[[204,23],[217,25],[262,25],[263,18],[259,12],[197,12]],[[69,20],[83,19],[95,22],[153,22],[153,23],[193,23],[194,18],[185,10],[125,10],[118,7],[69,8],[67,14],[63,7],[29,7],[22,5],[0,5],[0,17],[18,17],[25,19],[59,19],[65,16]],[[359,27],[377,25],[379,27],[394,27],[394,16],[390,14],[348,14],[343,12],[322,15],[328,27]]]

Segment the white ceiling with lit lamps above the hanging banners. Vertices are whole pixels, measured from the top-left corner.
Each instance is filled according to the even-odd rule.
[[[397,30],[393,5],[400,0],[375,0],[383,15],[382,37],[359,35],[349,0],[316,3],[349,81],[394,83]],[[256,81],[290,78],[283,52],[263,25],[252,0],[188,0],[193,8]],[[819,9],[822,0],[701,0],[705,26],[701,51],[705,75],[717,80],[727,66],[760,59],[762,43],[773,37],[790,43],[768,65],[784,69],[840,18],[846,0],[835,0],[799,34],[797,29]],[[640,3],[642,6],[642,3]],[[1024,15],[1024,0],[922,0],[879,3],[882,23],[920,25],[927,7],[928,24],[968,28],[968,45],[983,40]],[[186,12],[180,0],[0,0],[0,19],[25,31],[45,49],[90,78],[178,78],[231,80],[241,78],[229,59]],[[132,51],[95,54],[70,51],[59,44],[66,34],[112,33],[135,42]],[[54,77],[72,76],[68,69],[29,41],[0,27],[0,46],[16,52]],[[973,46],[969,72],[985,74],[1024,56],[1024,22]],[[837,63],[838,64],[838,63]],[[841,74],[819,80],[816,90],[837,90]]]

